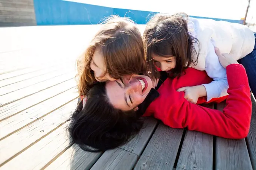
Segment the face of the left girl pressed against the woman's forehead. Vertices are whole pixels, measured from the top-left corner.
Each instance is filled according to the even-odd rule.
[[[93,58],[91,60],[91,69],[94,71],[95,79],[99,82],[104,82],[107,80],[114,81],[116,79],[113,79],[109,76],[109,74],[105,74],[106,72],[106,65],[104,58],[102,56],[102,53],[99,48],[96,48]],[[104,76],[105,74],[105,76]]]

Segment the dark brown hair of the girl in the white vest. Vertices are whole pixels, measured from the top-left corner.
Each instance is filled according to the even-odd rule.
[[[154,77],[159,78],[159,73],[152,61],[152,53],[162,57],[176,56],[176,66],[171,70],[172,78],[180,76],[191,62],[197,62],[197,59],[192,61],[192,53],[198,58],[199,49],[197,53],[194,47],[198,40],[190,35],[186,18],[188,15],[184,13],[155,14],[147,23],[143,41],[149,71]]]

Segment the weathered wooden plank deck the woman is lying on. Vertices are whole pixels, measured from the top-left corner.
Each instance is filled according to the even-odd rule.
[[[0,170],[256,170],[253,97],[245,139],[172,129],[146,118],[144,128],[126,145],[89,153],[66,131],[78,99],[72,53],[76,47],[65,46],[63,39],[56,46],[40,39],[34,42],[40,46],[0,41],[0,47],[8,47],[0,49]],[[208,105],[220,110],[223,106]]]

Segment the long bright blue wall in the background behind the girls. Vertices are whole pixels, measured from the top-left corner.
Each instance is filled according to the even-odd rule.
[[[98,24],[102,18],[117,14],[121,17],[130,17],[137,24],[146,24],[149,17],[157,12],[138,11],[131,9],[109,8],[85,3],[64,0],[34,0],[37,25],[77,25]],[[195,18],[206,18],[196,17]],[[242,23],[242,20],[224,20],[233,23]]]

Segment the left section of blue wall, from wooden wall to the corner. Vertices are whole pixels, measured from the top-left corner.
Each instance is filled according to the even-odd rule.
[[[113,8],[62,0],[34,0],[37,25],[97,24]]]

